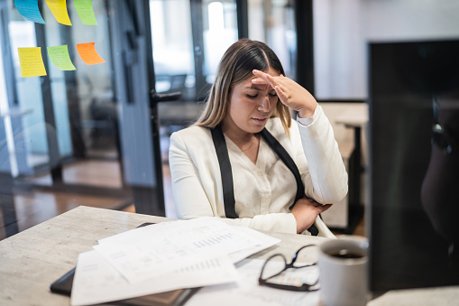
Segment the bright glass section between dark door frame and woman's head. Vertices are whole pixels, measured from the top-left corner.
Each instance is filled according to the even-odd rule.
[[[238,39],[235,1],[150,0],[150,13],[156,91],[202,100]]]

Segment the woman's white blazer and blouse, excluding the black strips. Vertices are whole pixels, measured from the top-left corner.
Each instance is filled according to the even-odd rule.
[[[335,136],[322,107],[313,117],[292,122],[290,135],[279,118],[266,128],[297,164],[305,196],[328,204],[347,193],[347,173]],[[179,218],[214,216],[229,224],[296,234],[297,222],[289,212],[297,192],[293,174],[261,138],[256,164],[225,136],[234,181],[235,211],[225,218],[220,166],[210,130],[190,126],[170,136],[170,174]],[[327,228],[317,218],[320,231]]]

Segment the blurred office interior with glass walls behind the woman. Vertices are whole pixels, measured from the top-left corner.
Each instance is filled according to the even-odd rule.
[[[96,26],[79,21],[72,1],[72,26],[39,5],[44,25],[0,1],[0,238],[78,205],[135,202],[139,212],[174,218],[169,135],[197,116],[220,56],[239,37],[276,51],[324,107],[343,150],[353,131],[335,118],[366,111],[368,42],[459,37],[454,0],[95,0]],[[95,42],[106,63],[78,60],[82,42]],[[17,48],[63,44],[76,70],[44,56],[48,75],[22,78]],[[151,97],[153,88],[182,95],[159,102],[168,97]],[[364,192],[359,199],[368,201]]]

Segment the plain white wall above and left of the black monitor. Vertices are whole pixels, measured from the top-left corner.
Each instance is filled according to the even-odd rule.
[[[316,96],[365,98],[368,42],[459,39],[459,0],[314,0]]]

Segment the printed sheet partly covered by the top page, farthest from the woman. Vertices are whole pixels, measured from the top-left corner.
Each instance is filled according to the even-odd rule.
[[[227,256],[222,256],[190,263],[170,274],[153,276],[148,281],[133,284],[127,282],[96,251],[89,251],[78,257],[71,304],[78,306],[119,301],[180,288],[231,283],[237,279],[234,264]]]

